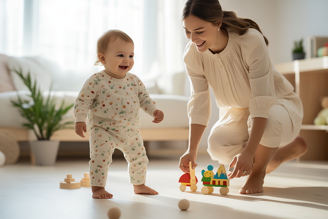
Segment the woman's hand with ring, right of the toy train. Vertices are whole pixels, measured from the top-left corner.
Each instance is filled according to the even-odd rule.
[[[229,165],[229,169],[234,167],[234,170],[228,173],[229,180],[234,177],[241,177],[250,174],[253,167],[254,155],[248,152],[237,154]]]

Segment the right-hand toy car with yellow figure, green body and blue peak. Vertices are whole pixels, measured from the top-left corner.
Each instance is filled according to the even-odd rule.
[[[201,188],[201,193],[204,195],[211,194],[214,191],[213,187],[221,187],[221,195],[226,195],[229,193],[229,180],[226,172],[226,168],[223,164],[220,165],[219,169],[216,171],[215,175],[212,171],[214,167],[212,165],[207,166],[207,171],[202,170],[201,182],[203,182],[203,188]]]

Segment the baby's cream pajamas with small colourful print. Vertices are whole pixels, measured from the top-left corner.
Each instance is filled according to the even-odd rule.
[[[129,72],[121,79],[98,72],[81,89],[74,114],[75,123],[85,122],[88,116],[91,186],[106,186],[115,148],[129,163],[130,183],[145,183],[148,158],[139,131],[140,108],[152,117],[158,109],[144,84]]]

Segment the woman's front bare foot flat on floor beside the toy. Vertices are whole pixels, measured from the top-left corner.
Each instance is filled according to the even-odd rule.
[[[239,189],[240,194],[253,194],[263,192],[265,173],[251,173],[244,185]]]

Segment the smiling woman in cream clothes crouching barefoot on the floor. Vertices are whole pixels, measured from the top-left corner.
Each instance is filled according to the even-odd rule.
[[[183,60],[191,82],[189,147],[180,169],[194,169],[211,115],[209,86],[220,119],[208,139],[212,160],[234,167],[229,179],[248,175],[241,194],[263,191],[265,173],[303,155],[298,136],[303,109],[293,86],[275,70],[268,40],[251,19],[222,11],[218,0],[187,0],[182,23],[190,42]]]

